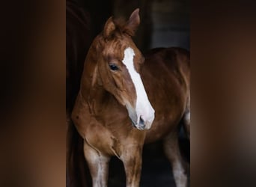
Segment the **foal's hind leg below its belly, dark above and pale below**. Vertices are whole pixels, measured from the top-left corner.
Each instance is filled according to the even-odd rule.
[[[180,155],[178,136],[176,133],[168,135],[164,140],[164,150],[171,162],[174,180],[177,187],[188,186],[186,164]]]

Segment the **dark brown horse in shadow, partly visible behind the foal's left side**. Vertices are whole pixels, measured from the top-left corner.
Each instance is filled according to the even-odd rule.
[[[91,45],[90,14],[78,2],[66,1],[66,110],[67,110],[67,186],[86,186],[88,167],[82,154],[82,140],[70,122],[80,88],[83,64]]]

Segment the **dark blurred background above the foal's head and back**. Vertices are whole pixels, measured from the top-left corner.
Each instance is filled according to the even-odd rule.
[[[74,0],[91,14],[92,37],[102,30],[109,16],[129,18],[140,8],[141,25],[135,43],[142,52],[159,46],[189,49],[189,0]]]

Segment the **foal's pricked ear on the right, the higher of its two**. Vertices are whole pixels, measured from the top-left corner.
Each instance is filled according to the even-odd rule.
[[[129,20],[126,25],[127,31],[129,32],[128,34],[130,34],[131,36],[135,34],[135,31],[137,31],[138,25],[140,23],[138,12],[139,12],[139,9],[136,8],[132,12],[131,16],[129,16]]]

